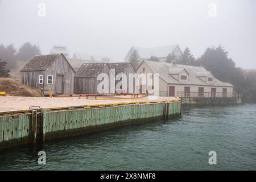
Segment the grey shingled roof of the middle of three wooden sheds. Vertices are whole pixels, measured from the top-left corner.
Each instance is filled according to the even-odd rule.
[[[109,66],[107,63],[84,63],[76,72],[76,77],[96,77],[101,73],[102,68]]]

